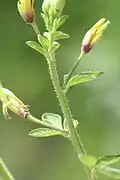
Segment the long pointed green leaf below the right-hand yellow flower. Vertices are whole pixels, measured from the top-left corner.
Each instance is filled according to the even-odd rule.
[[[103,72],[98,72],[98,71],[96,71],[96,72],[88,71],[88,72],[83,72],[83,73],[77,74],[77,75],[73,76],[71,79],[69,79],[69,81],[66,85],[66,88],[68,89],[71,86],[75,86],[77,84],[84,83],[87,81],[92,81],[102,74],[103,74]]]

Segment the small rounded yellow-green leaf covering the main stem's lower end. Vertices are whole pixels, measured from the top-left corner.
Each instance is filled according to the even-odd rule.
[[[89,154],[84,154],[79,156],[80,161],[86,166],[92,167],[96,164],[96,158]]]

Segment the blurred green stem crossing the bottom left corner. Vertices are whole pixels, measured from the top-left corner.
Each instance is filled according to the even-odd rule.
[[[3,160],[0,158],[0,177],[3,178],[3,180],[14,180],[12,174],[4,164]]]

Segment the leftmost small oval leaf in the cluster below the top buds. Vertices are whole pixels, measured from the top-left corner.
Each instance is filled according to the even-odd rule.
[[[27,41],[26,44],[31,47],[32,49],[38,51],[41,54],[44,54],[44,50],[43,48],[40,46],[39,43],[35,42],[35,41]]]

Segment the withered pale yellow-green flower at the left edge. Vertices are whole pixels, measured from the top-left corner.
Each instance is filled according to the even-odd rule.
[[[10,119],[8,109],[23,118],[27,118],[30,114],[28,106],[18,99],[10,90],[3,88],[1,85],[0,99],[3,103],[3,115],[6,119]]]

